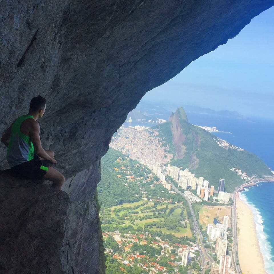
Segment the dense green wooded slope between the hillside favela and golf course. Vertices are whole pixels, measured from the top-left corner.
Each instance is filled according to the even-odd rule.
[[[171,195],[162,184],[156,184],[156,177],[147,166],[132,160],[113,148],[101,160],[102,179],[97,186],[98,200],[102,209],[124,203],[142,200],[146,193],[148,199],[158,197],[180,202],[179,194]],[[153,187],[151,187],[153,185]]]

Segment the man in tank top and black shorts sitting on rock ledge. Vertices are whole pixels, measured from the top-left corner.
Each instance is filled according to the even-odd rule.
[[[19,178],[52,181],[52,187],[61,189],[65,182],[63,174],[49,166],[57,164],[52,150],[44,150],[40,140],[40,126],[37,122],[46,109],[42,96],[31,99],[29,113],[17,118],[5,131],[1,142],[7,146],[7,160],[11,172]]]

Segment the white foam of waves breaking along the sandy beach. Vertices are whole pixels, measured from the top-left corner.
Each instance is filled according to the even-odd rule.
[[[246,189],[246,191],[248,191],[248,189]],[[259,210],[251,202],[247,200],[247,197],[244,192],[240,192],[239,197],[241,198],[241,200],[246,202],[246,204],[249,206],[249,208],[251,209],[253,213],[253,220],[256,226],[260,251],[261,251],[261,254],[263,255],[263,261],[265,263],[265,271],[268,274],[274,274],[274,262],[271,260],[272,247],[269,241],[267,240],[268,237],[271,237],[271,235],[267,235],[264,232],[263,217],[261,216],[261,213],[259,212]]]

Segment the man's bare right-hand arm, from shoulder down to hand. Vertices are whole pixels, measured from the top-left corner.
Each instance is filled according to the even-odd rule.
[[[31,142],[34,146],[35,153],[40,156],[41,158],[44,158],[45,160],[48,160],[49,162],[56,164],[56,160],[53,159],[45,150],[42,148],[41,140],[40,140],[40,126],[38,122],[33,121],[31,125],[31,130],[29,132]]]

